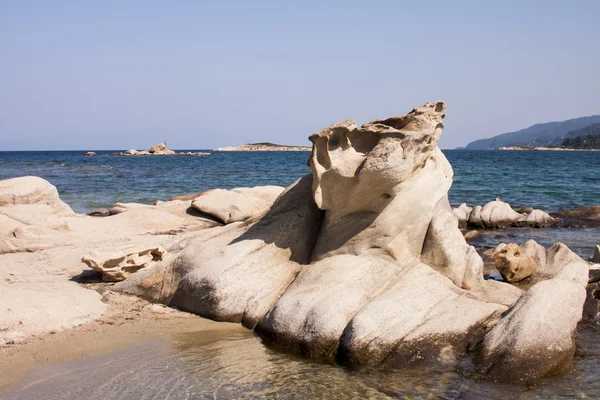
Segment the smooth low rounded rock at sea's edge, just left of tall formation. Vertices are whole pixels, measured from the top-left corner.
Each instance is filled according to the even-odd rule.
[[[213,189],[196,197],[192,207],[229,224],[264,214],[283,190],[280,186]]]

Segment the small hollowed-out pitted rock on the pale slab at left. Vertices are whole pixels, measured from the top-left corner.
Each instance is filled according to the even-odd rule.
[[[161,261],[166,253],[160,247],[151,249],[127,248],[120,251],[92,251],[81,261],[94,271],[102,273],[102,280],[118,282],[127,279],[129,275],[140,269],[149,267],[152,263]]]

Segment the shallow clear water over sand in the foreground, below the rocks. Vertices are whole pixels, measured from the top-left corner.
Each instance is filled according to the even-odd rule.
[[[569,374],[536,386],[494,383],[458,367],[349,370],[279,353],[251,331],[173,335],[126,350],[37,368],[15,399],[562,399],[600,398],[598,328],[581,326]]]

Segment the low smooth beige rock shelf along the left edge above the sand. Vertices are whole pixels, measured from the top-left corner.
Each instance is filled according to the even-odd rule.
[[[167,202],[105,218],[74,213],[37,177],[0,181],[0,347],[93,321],[106,312],[77,283],[93,249],[163,248],[220,225]],[[171,204],[172,203],[172,204]],[[134,274],[135,275],[135,274]]]

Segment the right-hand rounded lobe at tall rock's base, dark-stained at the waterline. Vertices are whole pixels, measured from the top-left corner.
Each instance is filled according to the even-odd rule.
[[[462,353],[504,310],[417,264],[354,316],[339,354],[349,364],[378,365],[417,361],[447,346]]]

